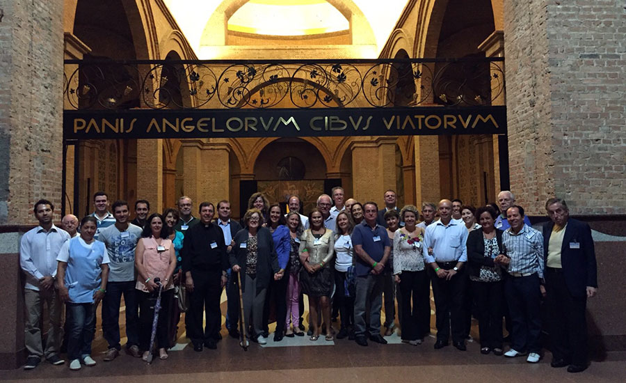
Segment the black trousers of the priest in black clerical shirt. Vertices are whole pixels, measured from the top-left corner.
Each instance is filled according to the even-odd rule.
[[[193,292],[189,295],[187,332],[194,344],[218,340],[222,322],[220,311],[221,270],[192,270]],[[207,323],[202,331],[202,313]]]

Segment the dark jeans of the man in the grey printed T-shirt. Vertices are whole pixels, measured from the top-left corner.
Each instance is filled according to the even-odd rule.
[[[102,299],[102,333],[109,348],[120,346],[120,302],[122,294],[126,304],[126,346],[139,345],[139,295],[135,281],[109,282]]]

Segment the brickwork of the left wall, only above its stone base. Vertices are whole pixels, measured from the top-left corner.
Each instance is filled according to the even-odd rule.
[[[29,224],[39,198],[61,211],[63,1],[0,7],[0,224]]]

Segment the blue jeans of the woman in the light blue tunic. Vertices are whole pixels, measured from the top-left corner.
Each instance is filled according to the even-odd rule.
[[[65,306],[70,334],[67,337],[67,357],[83,359],[91,354],[95,329],[95,306],[91,303],[70,303]]]

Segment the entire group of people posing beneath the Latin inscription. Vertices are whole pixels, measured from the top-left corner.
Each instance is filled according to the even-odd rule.
[[[323,336],[362,346],[385,344],[395,331],[397,299],[401,340],[419,345],[431,331],[431,286],[435,349],[451,338],[465,351],[473,314],[482,354],[527,355],[536,363],[545,299],[552,366],[568,366],[570,372],[586,368],[585,308],[597,292],[595,251],[591,228],[569,217],[565,201],[547,201],[550,221],[538,231],[508,191],[498,194],[497,204],[477,209],[458,199],[399,209],[393,190],[383,198],[385,207],[379,209],[372,201],[344,200],[344,189],[335,187],[305,216],[298,196],[289,198],[286,214],[280,203],[255,193],[239,223],[231,219],[229,201],[217,208],[202,202],[194,217],[191,198],[182,196],[177,209],[163,214],[150,214],[150,203],[139,200],[129,221],[128,203],[115,201],[111,214],[108,196],[98,192],[95,212],[80,222],[63,217],[63,229],[52,223],[52,203],[40,200],[34,207],[40,225],[22,237],[20,248],[29,351],[24,368],[35,368],[44,357],[64,364],[63,303],[67,355],[70,368],[78,370],[96,363],[90,353],[101,301],[109,344],[104,361],[118,357],[122,296],[127,352],[147,360],[152,352],[167,359],[182,310],[193,349],[216,349],[223,288],[226,327],[245,347],[248,339],[267,343],[273,321],[275,342],[305,336],[303,295],[310,341]],[[161,311],[153,332],[157,296]],[[45,350],[42,302],[50,320]],[[506,352],[503,317],[511,336]]]

